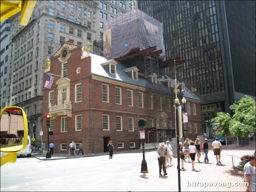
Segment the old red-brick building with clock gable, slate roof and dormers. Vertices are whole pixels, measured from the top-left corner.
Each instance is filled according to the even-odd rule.
[[[145,75],[144,63],[138,60],[128,65],[91,53],[83,58],[82,53],[86,55],[72,40],[62,43],[44,73],[44,83],[48,75],[54,81],[50,89],[43,88],[43,125],[50,114],[53,135],[49,135],[49,142],[57,152],[66,152],[72,139],[77,149],[83,141],[84,151],[90,153],[107,151],[109,140],[116,150],[138,149],[138,118],[147,120],[146,135],[150,135],[147,129],[152,129],[151,136],[154,132],[157,137],[146,139],[146,143],[175,137],[172,79]],[[145,76],[152,77],[150,89]],[[187,106],[190,109],[188,137],[196,138],[202,134],[200,99],[184,85],[180,88],[185,90],[185,111]],[[158,130],[164,137],[159,137]],[[43,132],[43,140],[47,140],[46,126]]]

